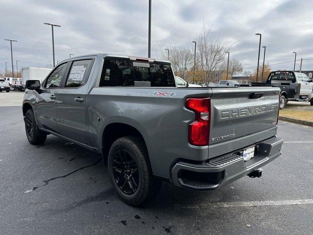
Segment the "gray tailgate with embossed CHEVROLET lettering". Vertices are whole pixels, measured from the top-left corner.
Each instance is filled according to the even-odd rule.
[[[275,136],[279,91],[274,87],[213,88],[208,157]]]

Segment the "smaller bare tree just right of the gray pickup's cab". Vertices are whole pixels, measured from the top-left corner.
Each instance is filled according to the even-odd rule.
[[[193,53],[188,49],[179,49],[175,45],[170,45],[169,49],[169,60],[171,61],[173,70],[176,75],[182,79],[186,79],[190,74],[190,69],[193,66]],[[167,60],[167,52],[164,48],[161,48],[161,56]]]

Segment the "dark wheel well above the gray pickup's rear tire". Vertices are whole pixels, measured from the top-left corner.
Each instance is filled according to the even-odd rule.
[[[140,132],[133,126],[124,123],[111,123],[106,126],[102,134],[102,154],[105,162],[112,143],[123,136],[138,136],[145,143]]]

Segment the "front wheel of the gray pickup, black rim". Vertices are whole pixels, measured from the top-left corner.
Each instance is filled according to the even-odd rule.
[[[25,131],[27,140],[31,144],[43,144],[47,138],[45,132],[38,129],[34,112],[31,109],[28,109],[25,114]]]

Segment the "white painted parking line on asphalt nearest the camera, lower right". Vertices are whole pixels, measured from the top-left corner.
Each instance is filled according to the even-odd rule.
[[[255,206],[285,206],[313,204],[313,199],[304,200],[285,200],[285,201],[251,201],[251,202],[212,202],[201,204],[175,204],[175,209],[200,209],[200,208],[216,208],[216,207],[255,207]]]

